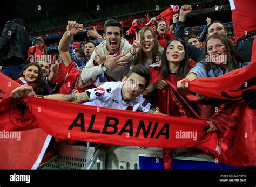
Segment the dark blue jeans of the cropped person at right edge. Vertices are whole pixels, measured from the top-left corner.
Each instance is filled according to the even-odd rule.
[[[253,37],[247,37],[246,39],[240,40],[237,43],[237,51],[245,60],[245,62],[251,62],[252,45],[254,39],[255,38]]]

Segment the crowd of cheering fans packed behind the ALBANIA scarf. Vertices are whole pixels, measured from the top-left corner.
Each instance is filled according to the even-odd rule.
[[[215,3],[196,7],[206,8]],[[129,30],[132,40],[121,37],[120,19],[109,19],[104,24],[104,38],[96,30],[90,33],[100,42],[98,46],[91,41],[84,42],[83,46],[75,46],[73,42],[73,36],[82,27],[96,23],[83,25],[69,21],[65,29],[48,31],[63,35],[58,45],[59,54],[50,56],[45,51],[43,37],[33,40],[29,47],[24,21],[9,21],[5,27],[19,31],[16,37],[23,46],[22,50],[16,50],[15,47],[19,46],[14,44],[11,51],[3,48],[4,45],[0,46],[2,72],[24,84],[12,93],[14,97],[36,93],[39,97],[85,105],[121,110],[131,107],[133,111],[172,115],[176,111],[166,111],[167,100],[158,100],[165,95],[166,81],[186,90],[190,81],[196,78],[218,77],[248,66],[251,60],[251,53],[248,53],[252,52],[251,44],[242,38],[245,46],[235,49],[227,37],[231,33],[221,21],[207,20],[199,36],[185,38],[185,20],[191,12],[191,5],[182,6],[179,16],[174,12],[171,27],[166,21],[158,20],[156,23],[154,18],[145,24],[147,26],[138,27],[139,20],[134,20]],[[171,28],[174,34],[171,34]],[[3,35],[6,34],[4,32]],[[253,40],[254,35],[249,34],[247,39]],[[8,37],[0,40],[14,42]],[[245,47],[246,53],[241,50]],[[212,121],[207,123],[210,125],[207,133],[218,130]]]

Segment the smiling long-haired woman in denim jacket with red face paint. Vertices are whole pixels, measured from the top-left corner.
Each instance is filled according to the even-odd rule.
[[[186,89],[188,83],[200,77],[218,77],[232,70],[248,66],[230,40],[221,34],[213,34],[205,41],[204,58],[197,62],[185,79],[177,82],[177,87]]]

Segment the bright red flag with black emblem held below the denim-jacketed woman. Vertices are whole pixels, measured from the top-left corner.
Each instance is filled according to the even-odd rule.
[[[255,58],[256,59],[256,58]],[[256,95],[256,63],[214,78],[197,78],[188,90],[207,97],[249,103]]]

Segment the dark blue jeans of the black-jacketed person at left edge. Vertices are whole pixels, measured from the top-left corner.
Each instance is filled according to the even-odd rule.
[[[16,80],[19,77],[22,69],[26,66],[25,63],[22,64],[10,64],[8,66],[4,66],[2,73],[13,80]]]

